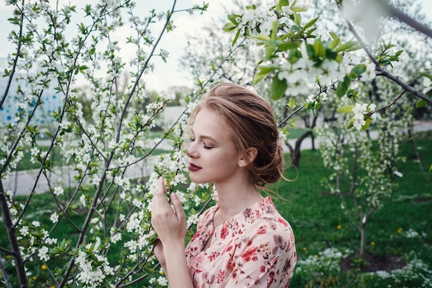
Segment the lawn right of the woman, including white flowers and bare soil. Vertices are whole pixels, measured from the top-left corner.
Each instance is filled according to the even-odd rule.
[[[287,199],[275,205],[296,238],[299,262],[291,287],[432,287],[432,134],[415,142],[420,162],[404,141],[406,161],[397,165],[403,177],[395,178],[393,195],[367,224],[366,262],[357,256],[360,232],[339,198],[320,184],[326,171],[319,151],[302,151],[297,180],[273,188]]]

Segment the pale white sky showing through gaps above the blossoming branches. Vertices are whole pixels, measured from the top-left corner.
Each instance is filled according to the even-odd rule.
[[[204,0],[205,1],[205,0]],[[431,0],[419,0],[423,7],[424,12],[429,15],[429,19],[432,19],[432,1]],[[68,0],[59,0],[59,3],[66,2]],[[75,0],[74,3],[77,6],[80,6],[80,3],[84,2],[84,0]],[[144,81],[146,81],[146,86],[150,89],[163,91],[169,86],[193,86],[193,80],[190,79],[190,76],[186,77],[186,73],[183,73],[179,68],[179,57],[184,54],[184,50],[186,48],[186,33],[191,33],[194,30],[197,31],[200,27],[204,25],[206,21],[209,21],[212,18],[218,17],[217,15],[224,16],[224,8],[223,6],[232,6],[232,1],[230,0],[207,0],[206,2],[210,3],[207,12],[204,12],[203,15],[199,15],[199,13],[195,13],[195,15],[191,16],[188,12],[178,13],[175,16],[175,24],[177,28],[166,35],[164,35],[163,41],[159,48],[164,48],[168,50],[169,57],[166,59],[167,63],[165,64],[161,59],[157,59],[155,61],[155,72],[152,75],[146,75]],[[4,58],[8,55],[8,53],[12,52],[12,46],[4,45],[8,43],[7,35],[10,31],[9,27],[12,27],[7,19],[10,17],[10,12],[12,11],[11,6],[6,6],[6,1],[0,1],[0,43],[2,43],[0,50],[0,58]],[[162,10],[166,11],[172,6],[173,1],[168,0],[157,0],[157,1],[147,1],[141,0],[137,1],[139,3],[139,9],[144,11],[143,15],[148,15],[148,11],[150,8],[155,8],[157,11]],[[201,5],[203,0],[177,0],[176,8],[177,10],[183,8],[190,8],[194,3]],[[81,5],[82,6],[82,5]],[[146,7],[148,6],[148,7]],[[121,32],[119,32],[121,33]],[[156,31],[154,32],[156,35]],[[122,48],[122,52],[124,52],[125,61],[128,61],[128,49]],[[157,52],[159,49],[157,49]],[[0,62],[1,65],[1,62]],[[0,67],[1,70],[4,67]]]

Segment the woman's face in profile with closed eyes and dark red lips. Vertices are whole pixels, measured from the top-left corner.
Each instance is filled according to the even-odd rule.
[[[229,182],[239,172],[241,156],[228,129],[208,109],[197,113],[192,127],[193,141],[187,151],[190,180],[202,184]]]

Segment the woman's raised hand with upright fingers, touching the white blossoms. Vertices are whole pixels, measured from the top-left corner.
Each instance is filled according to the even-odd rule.
[[[181,202],[175,193],[170,194],[173,208],[166,199],[164,178],[159,177],[157,193],[152,201],[152,220],[153,229],[157,233],[157,238],[163,247],[182,243],[184,249],[184,238],[186,236],[186,215],[184,214]],[[162,249],[163,251],[163,249]],[[159,257],[158,257],[159,259]]]

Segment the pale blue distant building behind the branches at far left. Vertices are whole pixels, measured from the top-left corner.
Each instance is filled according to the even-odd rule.
[[[6,92],[9,81],[8,77],[3,77],[5,68],[8,68],[8,61],[6,58],[0,57],[0,97],[3,97],[4,93]],[[6,96],[6,100],[0,107],[1,124],[8,124],[14,122],[14,118],[16,117],[15,115],[20,108],[17,104],[21,104],[23,102],[23,98],[17,97],[16,95],[19,85],[23,86],[23,82],[12,79],[8,95]],[[43,124],[47,122],[52,122],[52,111],[57,111],[58,108],[63,105],[61,96],[57,94],[53,88],[54,85],[55,82],[53,83],[52,87],[43,91],[43,95],[41,97],[42,104],[37,108],[35,117],[32,118],[32,124]],[[28,112],[31,112],[32,109],[35,107],[35,104],[35,102],[26,103],[24,107],[21,106],[21,108],[25,108]]]

